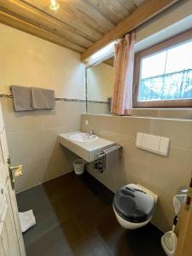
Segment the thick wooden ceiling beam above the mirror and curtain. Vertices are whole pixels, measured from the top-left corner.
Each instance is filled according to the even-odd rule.
[[[146,3],[138,7],[131,15],[125,18],[125,20],[120,21],[113,30],[107,32],[101,39],[96,41],[95,44],[86,49],[82,54],[82,61],[86,61],[90,55],[93,55],[99,49],[102,49],[107,44],[123,37],[126,33],[131,32],[137,28],[137,26],[142,25],[147,20],[160,14],[160,12],[179,1],[180,0],[148,0]]]

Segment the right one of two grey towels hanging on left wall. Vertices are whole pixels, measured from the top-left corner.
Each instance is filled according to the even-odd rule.
[[[54,90],[32,87],[32,108],[51,109],[55,108]]]

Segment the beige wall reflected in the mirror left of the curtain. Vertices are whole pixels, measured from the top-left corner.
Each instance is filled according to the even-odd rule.
[[[87,96],[90,101],[107,102],[113,95],[113,67],[100,63],[87,71]]]

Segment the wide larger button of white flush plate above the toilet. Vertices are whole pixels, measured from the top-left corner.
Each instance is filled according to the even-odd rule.
[[[142,148],[158,154],[160,148],[160,137],[143,133]]]

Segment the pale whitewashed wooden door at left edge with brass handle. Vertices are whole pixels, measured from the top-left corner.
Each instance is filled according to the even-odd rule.
[[[0,104],[0,255],[25,256],[15,190],[9,177],[8,158],[9,151]]]

